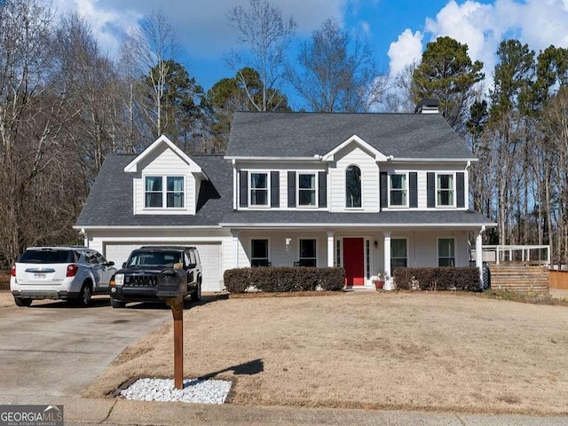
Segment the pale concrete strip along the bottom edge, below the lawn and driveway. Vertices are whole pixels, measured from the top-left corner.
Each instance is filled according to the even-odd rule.
[[[531,417],[425,413],[413,411],[370,411],[288,406],[202,405],[182,402],[139,402],[123,399],[0,397],[0,404],[63,404],[66,426],[113,425],[315,425],[340,426],[565,426],[568,416]]]

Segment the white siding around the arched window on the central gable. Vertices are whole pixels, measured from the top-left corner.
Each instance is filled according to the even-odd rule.
[[[375,157],[357,144],[335,154],[329,168],[328,200],[331,211],[345,211],[345,170],[356,165],[361,170],[362,211],[379,211],[379,169]],[[352,211],[350,209],[350,211]]]

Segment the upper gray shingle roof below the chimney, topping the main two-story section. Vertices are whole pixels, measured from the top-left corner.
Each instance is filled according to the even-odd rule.
[[[398,158],[473,158],[441,114],[234,114],[227,156],[313,157],[353,135]]]

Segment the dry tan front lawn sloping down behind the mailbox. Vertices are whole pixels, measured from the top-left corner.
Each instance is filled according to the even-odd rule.
[[[185,311],[185,376],[241,405],[567,414],[568,309],[456,294],[240,298]],[[171,376],[170,324],[87,390]]]

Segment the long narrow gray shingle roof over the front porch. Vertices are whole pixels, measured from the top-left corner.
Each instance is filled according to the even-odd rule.
[[[363,212],[240,210],[226,214],[220,224],[229,228],[461,228],[497,224],[473,210],[411,210]]]

